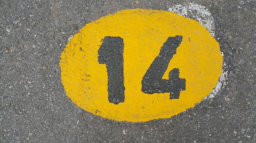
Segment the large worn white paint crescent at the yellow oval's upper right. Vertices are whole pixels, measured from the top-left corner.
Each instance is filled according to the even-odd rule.
[[[168,11],[175,12],[181,16],[194,19],[201,23],[214,37],[215,25],[211,12],[202,5],[189,3],[188,5],[175,5],[169,7]]]

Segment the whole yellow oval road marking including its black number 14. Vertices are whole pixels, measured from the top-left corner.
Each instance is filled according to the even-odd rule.
[[[67,96],[79,107],[138,122],[200,103],[216,86],[222,62],[218,42],[200,23],[133,9],[86,24],[62,52],[60,67]]]

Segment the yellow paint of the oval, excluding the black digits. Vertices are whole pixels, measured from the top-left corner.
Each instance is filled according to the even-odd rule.
[[[200,23],[168,11],[122,10],[88,23],[69,41],[61,55],[62,84],[82,109],[119,121],[169,118],[194,107],[212,92],[222,73],[218,42]],[[169,93],[145,94],[141,80],[169,36],[182,35],[177,53],[163,76],[173,68],[186,79],[179,99]],[[124,39],[125,102],[108,102],[106,65],[98,63],[105,36]]]

